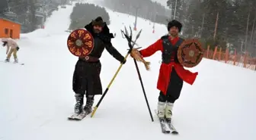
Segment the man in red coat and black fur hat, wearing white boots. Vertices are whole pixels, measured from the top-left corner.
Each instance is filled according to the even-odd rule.
[[[137,50],[133,48],[132,57],[146,58],[162,51],[162,64],[159,70],[157,89],[160,90],[158,96],[158,117],[171,123],[172,108],[174,102],[180,97],[183,81],[192,85],[197,77],[197,73],[185,70],[179,63],[177,53],[178,47],[184,41],[178,36],[181,32],[182,24],[177,20],[168,23],[168,35],[162,36],[148,48]]]

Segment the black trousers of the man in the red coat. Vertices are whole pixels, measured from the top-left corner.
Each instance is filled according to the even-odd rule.
[[[172,68],[171,79],[168,85],[166,95],[163,92],[159,93],[158,101],[174,103],[181,95],[181,89],[183,87],[183,80],[178,76],[176,70]]]

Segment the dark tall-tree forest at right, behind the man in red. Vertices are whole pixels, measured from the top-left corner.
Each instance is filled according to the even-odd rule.
[[[183,16],[188,37],[256,56],[255,0],[190,0]]]

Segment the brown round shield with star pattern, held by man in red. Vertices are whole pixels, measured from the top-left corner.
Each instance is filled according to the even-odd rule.
[[[187,39],[178,48],[178,61],[184,67],[195,67],[203,59],[203,48],[197,39]]]

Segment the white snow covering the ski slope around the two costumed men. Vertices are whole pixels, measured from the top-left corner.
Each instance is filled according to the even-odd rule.
[[[0,63],[1,140],[254,140],[256,114],[256,73],[218,61],[203,59],[194,67],[199,75],[193,86],[184,83],[181,97],[174,104],[174,126],[180,135],[164,135],[155,116],[158,101],[156,82],[160,52],[146,58],[139,69],[155,122],[151,122],[133,59],[123,65],[94,117],[81,122],[68,121],[75,104],[72,74],[77,58],[70,54],[66,39],[72,6],[59,9],[47,20],[45,30],[24,34],[18,41],[18,58],[24,66]],[[126,54],[127,43],[120,34],[123,26],[133,25],[134,17],[109,11],[114,46]],[[122,20],[120,20],[122,19]],[[132,26],[133,27],[133,26]],[[166,27],[139,18],[142,29],[138,44],[145,48],[166,33]],[[136,31],[134,36],[136,36]],[[5,59],[5,48],[0,58]],[[11,60],[13,61],[13,60]],[[101,58],[101,80],[105,89],[120,63],[107,51]],[[94,105],[101,96],[96,96]]]

